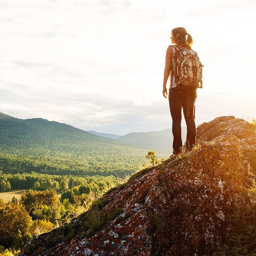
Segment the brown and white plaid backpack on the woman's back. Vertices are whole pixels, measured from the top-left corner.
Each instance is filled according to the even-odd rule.
[[[179,45],[172,45],[175,48],[174,59],[176,61],[175,83],[182,89],[194,91],[203,88],[202,73],[203,67],[198,55],[192,49]],[[200,86],[199,86],[200,83]]]

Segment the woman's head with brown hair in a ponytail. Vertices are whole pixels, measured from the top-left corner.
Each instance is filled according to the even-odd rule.
[[[179,44],[181,46],[191,49],[193,44],[193,38],[190,36],[185,28],[173,28],[172,29],[172,44]]]

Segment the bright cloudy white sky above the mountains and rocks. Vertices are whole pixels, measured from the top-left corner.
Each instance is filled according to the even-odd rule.
[[[251,122],[254,24],[254,0],[0,0],[0,112],[119,135],[171,128],[165,52],[184,27],[204,64],[196,124]]]

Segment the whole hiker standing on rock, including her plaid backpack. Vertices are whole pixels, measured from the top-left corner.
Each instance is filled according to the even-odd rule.
[[[187,124],[186,151],[196,145],[195,100],[196,89],[202,88],[203,65],[197,53],[191,49],[193,39],[185,28],[172,29],[171,40],[173,45],[168,46],[165,57],[163,96],[167,98],[166,83],[170,77],[169,106],[173,134],[171,156],[178,156],[182,153],[181,108]]]

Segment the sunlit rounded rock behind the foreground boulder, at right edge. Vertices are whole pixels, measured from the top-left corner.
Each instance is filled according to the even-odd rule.
[[[235,116],[220,116],[197,127],[197,139],[204,141],[228,135],[235,135],[243,149],[244,159],[251,164],[252,172],[256,173],[256,125]]]

